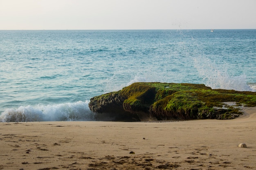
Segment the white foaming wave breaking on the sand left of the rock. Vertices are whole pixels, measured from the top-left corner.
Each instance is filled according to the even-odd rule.
[[[20,106],[8,108],[0,115],[0,122],[16,121],[92,121],[94,113],[90,111],[89,101],[74,103]]]

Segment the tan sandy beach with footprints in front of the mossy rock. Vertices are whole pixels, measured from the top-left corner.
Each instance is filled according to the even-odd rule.
[[[244,111],[233,120],[0,123],[0,170],[256,169],[256,107]]]

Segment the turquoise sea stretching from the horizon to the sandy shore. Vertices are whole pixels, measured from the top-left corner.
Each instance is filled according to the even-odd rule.
[[[133,82],[256,91],[256,30],[0,31],[0,121],[94,120]]]

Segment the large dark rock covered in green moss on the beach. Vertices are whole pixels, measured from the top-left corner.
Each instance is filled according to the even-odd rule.
[[[93,97],[89,107],[95,113],[112,113],[135,121],[234,119],[241,114],[238,108],[222,108],[222,102],[256,106],[256,93],[211,89],[204,84],[139,82]]]

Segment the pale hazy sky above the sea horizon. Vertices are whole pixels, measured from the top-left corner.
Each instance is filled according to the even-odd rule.
[[[256,29],[256,0],[0,0],[6,29]]]

